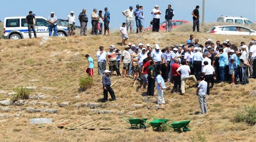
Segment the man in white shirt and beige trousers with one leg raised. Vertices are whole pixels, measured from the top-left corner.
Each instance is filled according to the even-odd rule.
[[[186,65],[186,60],[182,60],[181,61],[181,65],[178,69],[177,69],[177,74],[180,77],[181,80],[181,95],[185,94],[185,85],[186,85],[186,81],[187,79],[193,79],[193,81],[197,84],[196,81],[196,77],[195,75],[189,75],[190,74],[190,68],[188,65]]]

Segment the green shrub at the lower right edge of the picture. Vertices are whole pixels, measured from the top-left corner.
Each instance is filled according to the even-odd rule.
[[[245,106],[244,109],[238,111],[234,118],[235,122],[246,122],[253,126],[256,123],[256,105]]]

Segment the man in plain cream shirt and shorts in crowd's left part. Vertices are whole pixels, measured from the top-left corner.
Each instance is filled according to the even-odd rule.
[[[128,52],[129,49],[130,49],[129,46],[125,47],[122,54],[122,59],[121,59],[121,61],[123,62],[122,77],[128,76],[128,70],[131,63],[131,54]]]

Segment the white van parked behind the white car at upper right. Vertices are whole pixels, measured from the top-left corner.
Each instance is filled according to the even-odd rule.
[[[217,22],[224,22],[224,23],[233,23],[233,24],[247,24],[247,25],[251,25],[253,24],[252,21],[250,21],[249,19],[242,17],[242,16],[219,16],[217,19]]]

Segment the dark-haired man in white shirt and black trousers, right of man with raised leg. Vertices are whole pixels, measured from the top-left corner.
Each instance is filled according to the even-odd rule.
[[[213,66],[208,61],[204,61],[204,68],[203,68],[203,76],[205,78],[205,81],[207,82],[207,95],[210,95],[210,83],[211,88],[213,88],[215,77],[215,70]]]

